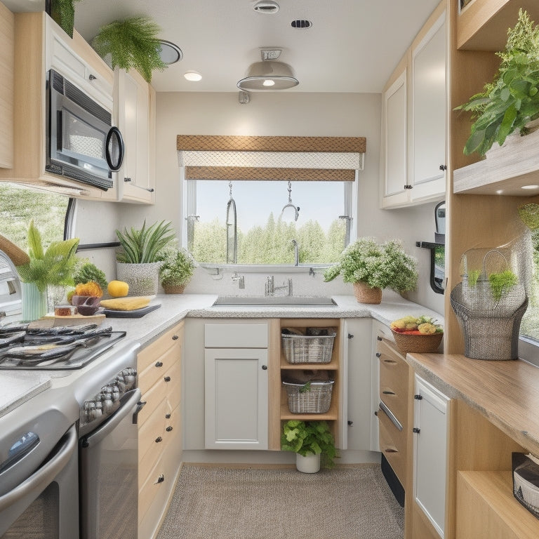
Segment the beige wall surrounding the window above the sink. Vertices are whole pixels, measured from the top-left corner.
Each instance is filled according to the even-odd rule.
[[[240,105],[235,92],[158,93],[156,204],[120,204],[122,222],[138,225],[144,218],[149,222],[168,219],[178,230],[182,227],[175,149],[178,134],[364,136],[367,152],[364,171],[359,173],[358,235],[403,239],[407,250],[420,262],[420,287],[411,299],[443,312],[443,296],[432,292],[428,284],[430,253],[415,247],[418,240],[434,241],[434,204],[393,211],[378,209],[380,111],[380,94],[252,93],[251,102]],[[312,287],[308,279],[294,276],[299,287],[295,290],[307,284]],[[187,291],[220,293],[230,286],[226,277],[215,281],[197,272]],[[318,277],[317,286],[325,287],[328,293],[352,293],[350,285],[335,282],[330,287]]]

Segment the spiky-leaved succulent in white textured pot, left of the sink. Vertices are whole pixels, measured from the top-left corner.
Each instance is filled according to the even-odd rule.
[[[175,239],[171,222],[146,221],[140,229],[116,231],[121,249],[116,255],[117,278],[129,286],[129,295],[155,295],[159,285],[159,267],[166,247]]]

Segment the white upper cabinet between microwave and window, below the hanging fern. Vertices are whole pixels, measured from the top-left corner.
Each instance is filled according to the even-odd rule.
[[[121,201],[153,204],[155,196],[155,91],[142,76],[116,69],[114,102],[126,154],[119,171]]]

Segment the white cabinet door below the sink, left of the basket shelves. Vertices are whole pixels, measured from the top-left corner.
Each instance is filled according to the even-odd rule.
[[[267,349],[206,348],[206,449],[267,449]]]

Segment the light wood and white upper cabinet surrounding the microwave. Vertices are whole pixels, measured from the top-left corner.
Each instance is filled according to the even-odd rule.
[[[0,180],[74,197],[117,199],[116,188],[103,191],[45,170],[48,70],[54,69],[65,76],[98,105],[112,112],[112,69],[77,32],[69,38],[44,12],[16,13],[14,36],[13,166],[0,169]]]

